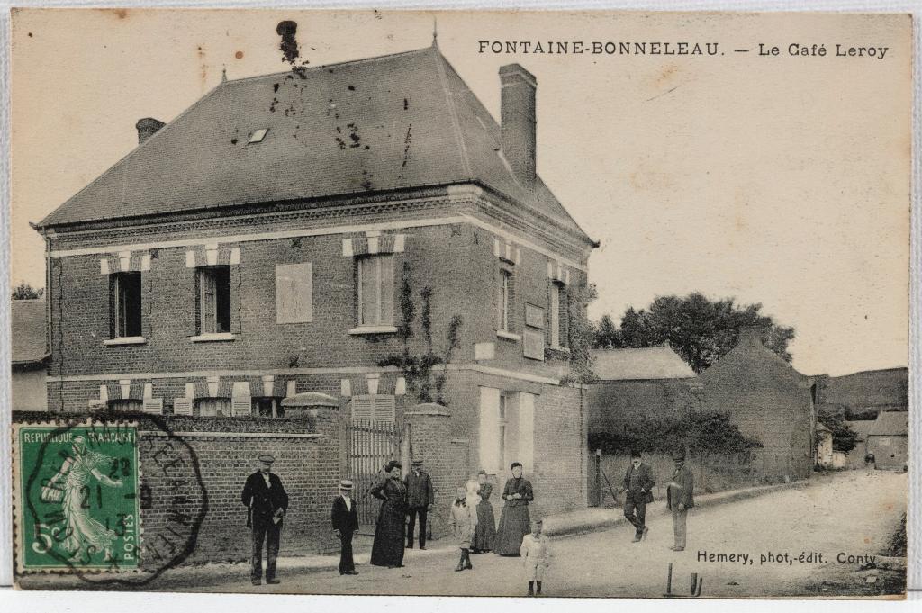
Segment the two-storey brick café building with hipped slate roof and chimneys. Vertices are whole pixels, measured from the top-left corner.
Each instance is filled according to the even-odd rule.
[[[502,487],[514,460],[537,513],[585,506],[584,391],[561,380],[596,243],[536,174],[536,78],[499,77],[499,124],[434,45],[225,81],[170,124],[139,121],[138,147],[36,226],[50,410],[101,400],[245,433],[319,392],[340,402],[343,451],[300,469],[331,495],[380,467],[350,430],[373,421],[374,463],[422,457],[437,514],[481,466]],[[436,353],[462,318],[435,368],[445,407],[416,407],[382,365],[406,299],[408,352],[425,352],[427,291]]]

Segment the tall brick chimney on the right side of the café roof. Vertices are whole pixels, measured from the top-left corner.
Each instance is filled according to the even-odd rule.
[[[535,188],[535,89],[538,80],[521,65],[500,68],[502,155],[519,182]]]

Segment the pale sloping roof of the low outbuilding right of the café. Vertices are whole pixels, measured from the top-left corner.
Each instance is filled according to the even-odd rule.
[[[690,379],[691,367],[666,346],[594,349],[592,370],[599,381]]]

